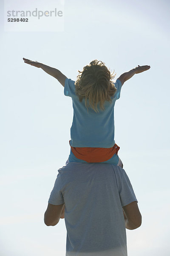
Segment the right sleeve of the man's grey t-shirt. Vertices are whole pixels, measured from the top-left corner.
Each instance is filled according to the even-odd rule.
[[[122,174],[121,183],[119,184],[119,197],[122,207],[134,201],[138,202],[136,199],[136,195],[133,191],[133,187],[130,183],[129,177],[127,176],[124,170]]]

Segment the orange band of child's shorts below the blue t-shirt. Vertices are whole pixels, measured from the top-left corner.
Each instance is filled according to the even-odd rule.
[[[100,163],[109,160],[114,154],[117,154],[119,148],[116,144],[112,148],[74,148],[71,146],[71,151],[78,159],[88,163]]]

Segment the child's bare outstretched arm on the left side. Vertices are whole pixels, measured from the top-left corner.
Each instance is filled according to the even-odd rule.
[[[46,73],[48,73],[50,76],[53,76],[55,77],[59,82],[60,84],[62,84],[62,86],[64,87],[64,84],[65,84],[65,79],[67,78],[65,75],[63,75],[59,70],[57,70],[56,68],[54,67],[49,67],[45,64],[42,64],[38,61],[30,61],[26,58],[23,58],[24,62],[26,64],[30,64],[31,66],[34,66],[34,67],[39,67],[41,68],[42,70],[44,70]]]

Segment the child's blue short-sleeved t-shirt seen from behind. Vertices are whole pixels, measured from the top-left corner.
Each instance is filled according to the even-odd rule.
[[[116,99],[120,98],[121,81],[116,80],[114,85],[116,93],[112,102],[105,101],[105,110],[102,111],[99,106],[99,113],[92,108],[85,107],[85,99],[79,102],[75,93],[75,81],[65,79],[64,94],[70,96],[73,101],[74,116],[71,126],[71,146],[72,147],[90,147],[90,148],[111,148],[114,141],[114,105]]]

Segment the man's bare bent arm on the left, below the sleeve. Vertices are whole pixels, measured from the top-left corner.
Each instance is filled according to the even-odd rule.
[[[44,214],[44,223],[47,226],[55,226],[58,222],[60,217],[63,217],[64,211],[64,204],[60,205],[53,205],[48,204],[48,207]]]

